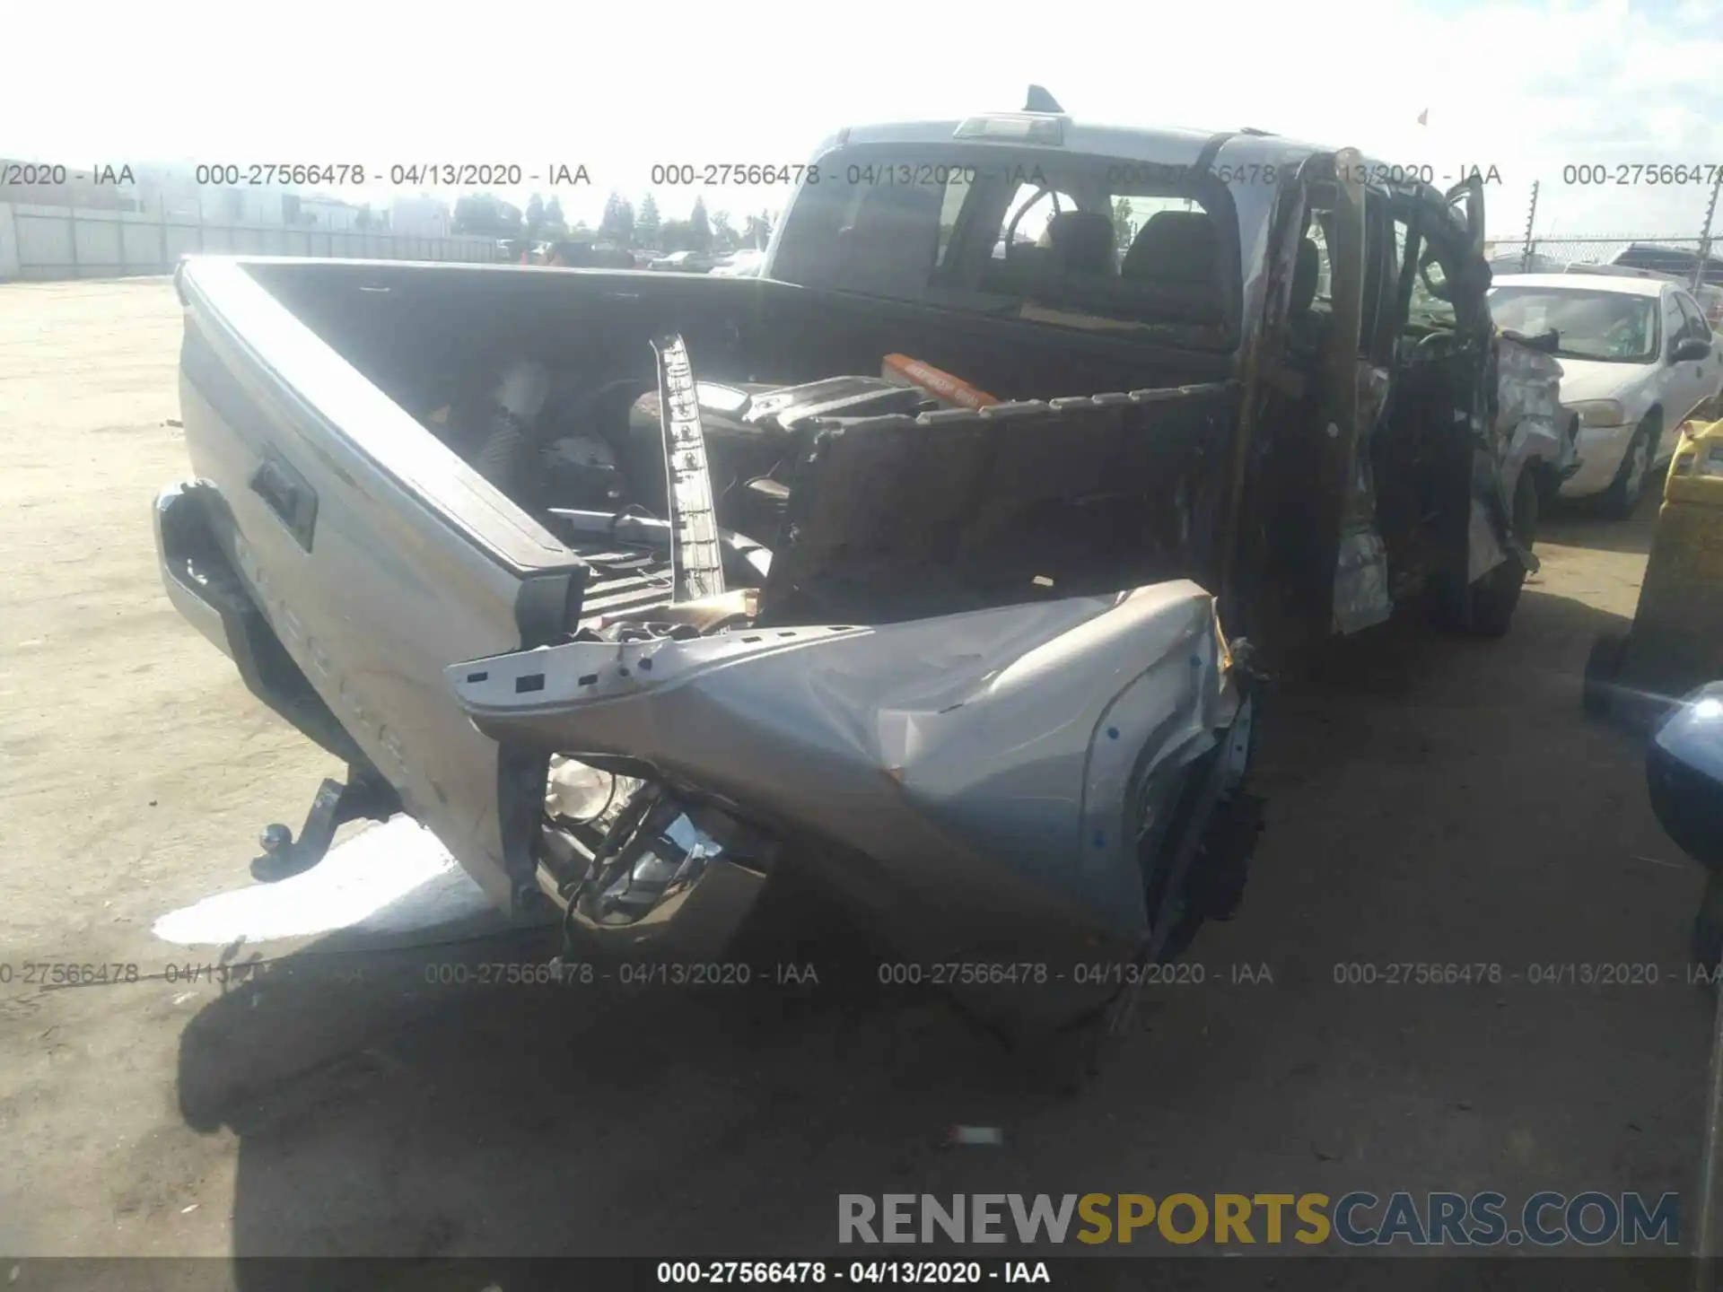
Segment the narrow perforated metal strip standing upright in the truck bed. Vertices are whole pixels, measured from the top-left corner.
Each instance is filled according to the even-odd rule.
[[[706,432],[700,424],[700,391],[681,336],[660,338],[658,408],[663,463],[669,475],[670,575],[677,601],[724,594],[724,551],[706,470]]]

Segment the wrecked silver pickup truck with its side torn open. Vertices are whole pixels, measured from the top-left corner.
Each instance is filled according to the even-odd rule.
[[[1041,112],[812,171],[762,279],[186,260],[164,581],[348,763],[276,873],[407,810],[569,956],[701,961],[794,872],[1092,1020],[1239,901],[1253,655],[1508,629],[1559,367],[1478,184],[1351,150]]]

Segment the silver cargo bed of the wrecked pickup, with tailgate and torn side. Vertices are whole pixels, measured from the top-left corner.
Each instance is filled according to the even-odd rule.
[[[1110,822],[1141,810],[1135,779],[1184,784],[1241,711],[1204,591],[1237,424],[1225,360],[746,279],[193,258],[179,291],[196,486],[164,494],[169,591],[184,608],[226,589],[210,636],[253,689],[386,779],[501,908],[544,887],[562,755],[798,841],[839,887],[865,877],[860,904],[930,939],[949,942],[949,913],[975,901],[989,918],[972,949],[1003,954],[1034,929],[1072,947],[1096,929],[1120,951],[1146,939],[1137,827]],[[724,575],[751,589],[755,630],[619,643],[603,636],[619,617],[674,598],[663,439],[643,460],[631,438],[667,336],[700,381],[815,382],[908,353],[1005,403],[715,438]],[[567,481],[543,465],[551,443],[575,446]],[[750,537],[727,508],[767,460],[787,501]],[[601,505],[569,496],[594,489]],[[644,674],[655,641],[689,680]],[[241,658],[255,643],[269,668]],[[1041,680],[1008,686],[1029,660]],[[667,689],[594,708],[617,670],[624,698]],[[911,717],[960,679],[968,699]],[[758,699],[729,710],[727,687]],[[936,717],[944,753],[905,734]],[[689,722],[734,729],[693,741]],[[999,722],[1048,732],[1008,742],[999,767],[961,755],[996,756]],[[879,792],[870,767],[899,791],[858,817],[863,784]],[[1111,779],[1091,784],[1101,767]],[[1025,799],[1032,784],[1065,789]],[[1091,835],[1061,858],[1054,841]]]

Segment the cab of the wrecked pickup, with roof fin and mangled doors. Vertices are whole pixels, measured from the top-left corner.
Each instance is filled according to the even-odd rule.
[[[1261,131],[1015,112],[834,133],[762,276],[1135,350],[1146,386],[1168,362],[1237,382],[1230,622],[1351,632],[1435,589],[1504,632],[1533,563],[1527,496],[1571,444],[1559,365],[1490,324],[1482,250],[1477,177],[1440,193]]]

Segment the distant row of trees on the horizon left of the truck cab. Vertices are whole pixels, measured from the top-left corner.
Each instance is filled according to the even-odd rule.
[[[737,227],[731,212],[708,212],[706,200],[696,196],[686,221],[667,221],[651,193],[641,198],[639,210],[620,193],[612,193],[605,200],[598,227],[593,229],[586,221],[570,226],[555,195],[546,202],[534,193],[527,198],[526,208],[520,208],[495,193],[467,193],[455,202],[453,231],[529,241],[574,238],[641,252],[736,252],[767,245],[772,236],[772,214],[744,215]]]

